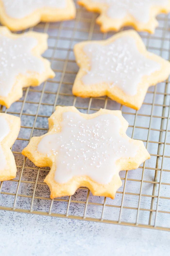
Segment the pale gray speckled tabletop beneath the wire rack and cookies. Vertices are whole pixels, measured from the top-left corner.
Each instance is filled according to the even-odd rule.
[[[46,24],[46,26],[40,23],[33,28],[34,31],[46,31],[49,34],[49,49],[43,56],[51,61],[51,67],[54,69],[56,77],[43,83],[40,87],[30,87],[24,90],[23,97],[12,104],[10,109],[7,110],[8,113],[17,116],[20,115],[22,110],[21,130],[18,136],[19,139],[12,147],[17,163],[17,176],[12,181],[3,182],[0,194],[0,207],[14,206],[18,188],[15,205],[18,210],[30,210],[31,203],[33,202],[33,210],[49,211],[51,205],[50,191],[48,186],[43,183],[49,168],[40,169],[38,175],[38,168],[28,159],[26,159],[24,164],[24,156],[20,152],[27,146],[31,135],[40,136],[47,132],[47,119],[53,113],[55,105],[73,105],[74,103],[84,113],[87,113],[88,108],[89,113],[104,108],[104,106],[111,110],[121,108],[120,104],[106,99],[106,97],[90,100],[89,98],[75,98],[72,95],[72,84],[78,71],[73,55],[74,44],[82,40],[103,39],[113,35],[113,32],[103,35],[99,31],[98,25],[94,25],[93,28],[95,17],[97,17],[97,14],[89,13],[85,9],[80,8],[77,12],[76,20]],[[169,18],[165,15],[160,15],[159,24],[159,28],[156,29],[154,35],[148,36],[147,33],[140,33],[140,35],[149,51],[169,59]],[[151,224],[154,225],[155,210],[158,207],[160,212],[157,215],[156,225],[170,228],[170,124],[168,123],[167,125],[167,120],[169,120],[167,118],[170,101],[169,93],[169,83],[166,85],[163,82],[156,87],[149,88],[144,104],[137,114],[135,110],[125,106],[122,107],[123,116],[129,122],[127,135],[132,136],[135,122],[133,138],[143,140],[145,145],[148,139],[148,151],[152,156],[151,159],[146,161],[144,172],[142,172],[142,164],[137,170],[127,173],[120,221],[136,222],[141,190],[138,223],[144,225],[149,223],[158,141],[161,121],[164,120],[161,142],[165,140],[167,126],[167,144],[165,148],[163,144],[161,147],[160,163],[158,166],[158,186],[155,191],[155,205],[153,207],[153,220]],[[24,101],[25,103],[23,104]],[[165,111],[164,117],[161,118],[163,104]],[[1,111],[5,111],[5,107],[2,107]],[[32,128],[33,126],[34,129]],[[162,164],[163,149],[165,157]],[[160,172],[161,164],[162,172]],[[103,219],[119,220],[126,172],[120,172],[120,177],[123,184],[118,189],[114,200],[106,199]],[[141,188],[142,177],[144,182]],[[160,177],[161,186],[159,186]],[[18,186],[19,179],[21,179],[21,183]],[[35,187],[36,179],[37,185]],[[159,187],[161,188],[160,191]],[[32,201],[34,192],[35,197]],[[157,200],[158,193],[160,193],[159,202]],[[79,217],[84,215],[87,194],[88,190],[86,188],[76,191],[71,197],[69,215]],[[66,214],[68,200],[69,197],[63,197],[61,200],[55,199],[51,213]],[[100,219],[104,197],[96,197],[89,193],[88,202],[86,217]],[[165,231],[0,211],[0,245],[2,255],[91,256],[124,255],[125,252],[128,255],[139,256],[145,253],[149,256],[169,255],[169,244],[168,233]]]

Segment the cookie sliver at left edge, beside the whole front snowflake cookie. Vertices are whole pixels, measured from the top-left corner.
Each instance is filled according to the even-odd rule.
[[[10,147],[16,141],[20,127],[19,117],[0,113],[0,181],[16,177],[17,167]]]

